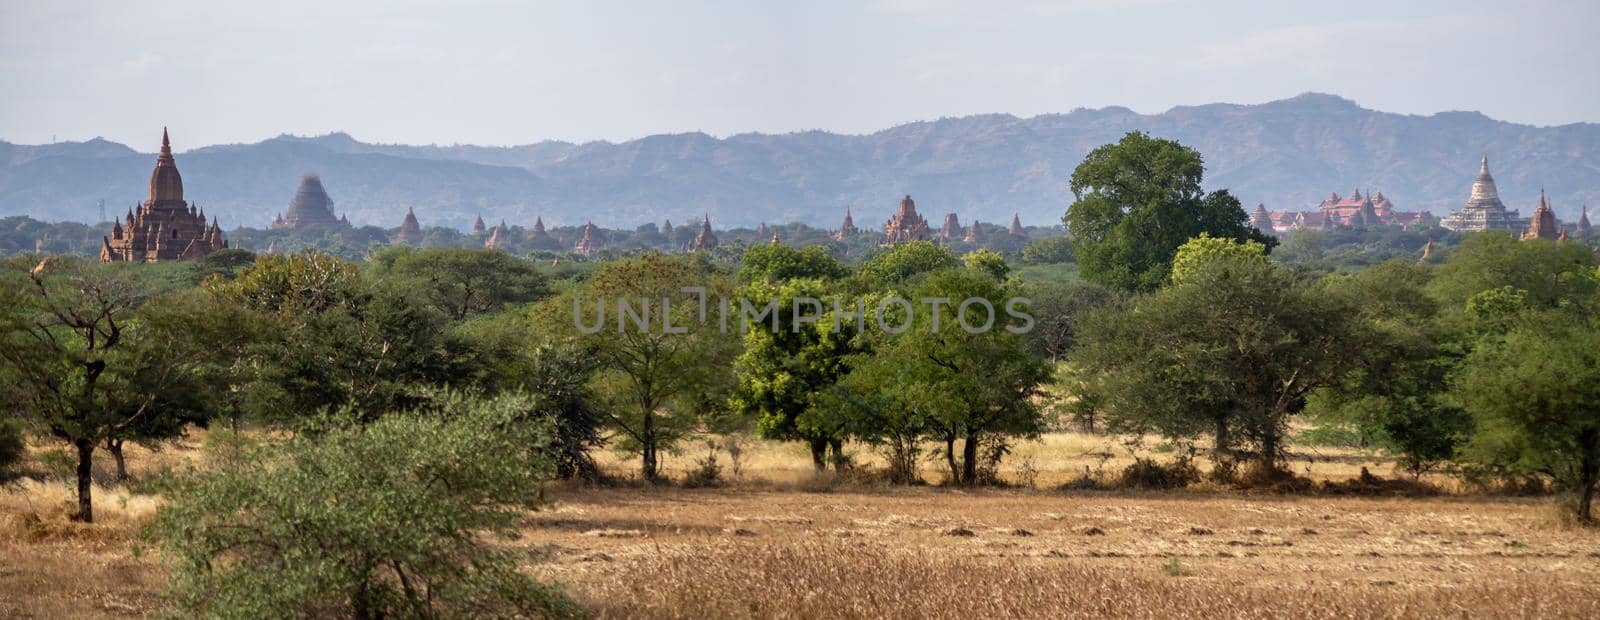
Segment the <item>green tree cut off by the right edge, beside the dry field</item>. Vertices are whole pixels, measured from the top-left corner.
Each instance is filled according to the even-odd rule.
[[[1600,321],[1592,310],[1528,312],[1467,356],[1456,384],[1477,422],[1469,455],[1538,473],[1594,523],[1600,484]]]

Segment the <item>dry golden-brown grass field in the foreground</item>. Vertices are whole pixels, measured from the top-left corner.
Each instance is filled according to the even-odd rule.
[[[138,452],[133,473],[195,457],[195,446]],[[798,447],[757,443],[742,451],[741,475],[715,489],[555,486],[552,507],[504,543],[598,617],[1547,618],[1600,609],[1600,532],[1565,526],[1549,499],[1053,491],[1083,467],[1120,470],[1131,455],[1118,446],[1046,436],[1019,446],[1005,470],[1037,489],[960,491],[827,484]],[[704,452],[691,444],[669,470],[680,475]],[[726,452],[720,462],[730,473]],[[606,455],[613,471],[630,465]],[[1325,479],[1363,465],[1389,475],[1360,454],[1294,463]],[[162,570],[133,551],[158,499],[96,497],[101,523],[83,526],[64,518],[62,481],[0,491],[0,617],[158,609]]]

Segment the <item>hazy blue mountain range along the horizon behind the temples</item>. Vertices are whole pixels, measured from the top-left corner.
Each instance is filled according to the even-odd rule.
[[[286,208],[302,173],[322,174],[334,209],[355,224],[398,225],[414,206],[426,225],[467,227],[474,216],[528,225],[610,227],[698,219],[834,227],[845,206],[882,225],[902,193],[931,222],[1048,225],[1070,201],[1067,179],[1090,149],[1142,129],[1198,149],[1206,185],[1246,206],[1306,209],[1330,192],[1382,190],[1398,209],[1443,216],[1467,197],[1488,153],[1501,197],[1523,213],[1539,189],[1563,221],[1600,206],[1600,125],[1536,128],[1477,112],[1429,117],[1374,112],[1330,94],[1261,105],[1210,104],[1141,115],[1122,107],[1032,118],[978,115],[894,126],[866,136],[824,131],[648,136],[621,144],[518,147],[366,144],[347,134],[280,136],[182,150],[186,195],[226,227],[261,227]],[[154,149],[155,128],[150,144]],[[155,155],[94,139],[0,142],[0,216],[93,221],[142,200]]]

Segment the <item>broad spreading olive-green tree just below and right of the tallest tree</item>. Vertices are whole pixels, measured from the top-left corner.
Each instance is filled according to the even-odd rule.
[[[1211,431],[1218,462],[1242,446],[1275,471],[1290,419],[1354,361],[1350,315],[1283,267],[1224,254],[1130,313],[1091,315],[1074,363],[1096,372],[1115,430]]]

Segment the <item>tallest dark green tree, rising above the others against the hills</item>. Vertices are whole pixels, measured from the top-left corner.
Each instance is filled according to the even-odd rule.
[[[1205,193],[1200,153],[1133,131],[1072,171],[1074,203],[1062,219],[1090,281],[1154,291],[1168,281],[1173,254],[1200,233],[1235,241],[1277,241],[1248,225],[1238,200]]]

